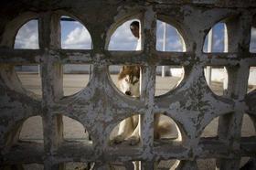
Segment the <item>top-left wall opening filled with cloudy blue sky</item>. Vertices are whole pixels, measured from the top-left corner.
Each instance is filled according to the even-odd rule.
[[[31,20],[21,27],[16,35],[15,48],[38,48],[37,20]]]

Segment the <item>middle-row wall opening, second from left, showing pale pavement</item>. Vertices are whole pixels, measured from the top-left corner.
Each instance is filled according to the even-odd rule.
[[[91,80],[92,65],[66,64],[63,66],[63,91],[69,96],[84,89]]]

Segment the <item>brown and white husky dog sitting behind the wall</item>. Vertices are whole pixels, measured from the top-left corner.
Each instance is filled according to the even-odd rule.
[[[124,94],[139,97],[140,96],[140,67],[139,66],[123,66],[118,75],[118,88]],[[134,115],[126,118],[120,123],[119,131],[113,138],[113,143],[122,143],[127,141],[130,144],[136,144],[140,141],[140,121],[139,116]],[[175,122],[169,117],[156,113],[154,121],[154,137],[155,139],[165,138],[166,135],[176,131]]]

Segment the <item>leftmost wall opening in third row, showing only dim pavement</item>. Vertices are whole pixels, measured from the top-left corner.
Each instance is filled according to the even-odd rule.
[[[19,139],[21,141],[30,141],[43,143],[43,123],[41,116],[32,116],[23,122]]]

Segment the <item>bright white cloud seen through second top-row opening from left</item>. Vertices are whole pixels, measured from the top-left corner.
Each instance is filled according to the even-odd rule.
[[[91,36],[85,27],[75,27],[61,42],[61,47],[91,49]]]

